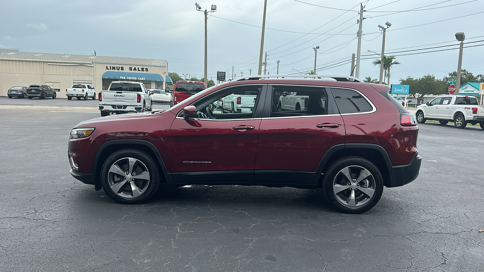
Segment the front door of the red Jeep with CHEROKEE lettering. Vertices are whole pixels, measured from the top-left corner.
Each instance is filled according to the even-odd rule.
[[[179,113],[169,134],[170,168],[177,183],[252,182],[256,161],[257,140],[261,118],[250,113],[212,114],[209,108],[219,99],[243,91],[257,91],[256,105],[262,86],[249,85],[226,88],[200,99],[193,105],[196,118],[183,118]],[[263,105],[260,105],[263,106]]]

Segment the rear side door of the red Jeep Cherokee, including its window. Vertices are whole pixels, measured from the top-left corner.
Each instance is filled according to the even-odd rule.
[[[288,92],[299,110],[276,106]],[[326,88],[273,85],[271,93],[260,123],[255,182],[309,184],[326,151],[345,143],[343,118],[333,114]]]

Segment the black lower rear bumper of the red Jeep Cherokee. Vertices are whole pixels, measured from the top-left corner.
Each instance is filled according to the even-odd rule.
[[[416,154],[408,165],[388,166],[390,184],[386,187],[398,187],[414,181],[419,176],[422,157]]]

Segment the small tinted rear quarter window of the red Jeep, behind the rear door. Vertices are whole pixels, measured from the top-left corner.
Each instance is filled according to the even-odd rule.
[[[373,109],[368,101],[356,91],[333,88],[331,91],[341,114],[368,112]]]

